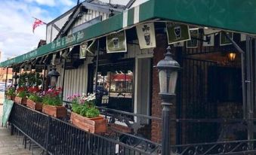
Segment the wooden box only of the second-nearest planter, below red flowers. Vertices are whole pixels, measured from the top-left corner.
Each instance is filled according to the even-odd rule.
[[[66,117],[66,108],[63,106],[44,105],[42,107],[42,112],[52,117],[57,117],[57,118]]]

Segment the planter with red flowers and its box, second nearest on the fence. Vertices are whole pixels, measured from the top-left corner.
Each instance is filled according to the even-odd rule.
[[[45,92],[42,103],[42,112],[57,118],[66,117],[66,108],[63,107],[62,100],[60,99],[61,89],[49,89]]]

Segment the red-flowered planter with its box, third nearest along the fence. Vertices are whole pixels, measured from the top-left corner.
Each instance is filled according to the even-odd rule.
[[[26,106],[36,111],[42,111],[42,94],[39,87],[29,87],[29,99],[26,101]]]

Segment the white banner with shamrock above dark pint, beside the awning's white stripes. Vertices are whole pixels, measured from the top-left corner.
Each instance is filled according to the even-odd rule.
[[[140,49],[156,47],[154,23],[144,23],[136,26]]]

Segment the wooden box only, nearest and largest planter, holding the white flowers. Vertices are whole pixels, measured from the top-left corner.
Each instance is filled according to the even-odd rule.
[[[91,133],[106,132],[106,119],[103,116],[88,118],[71,112],[71,123]]]

